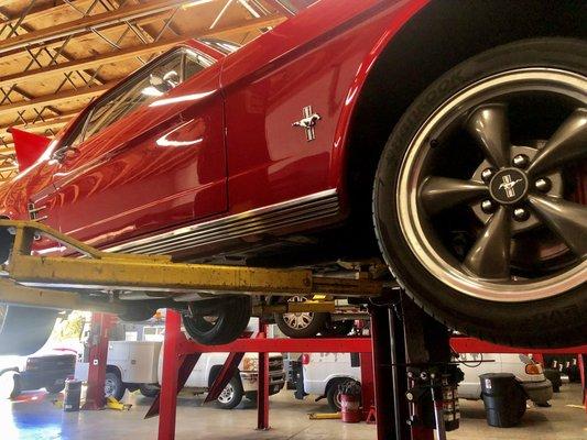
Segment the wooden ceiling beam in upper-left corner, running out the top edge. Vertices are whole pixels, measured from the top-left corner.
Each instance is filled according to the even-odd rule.
[[[1,41],[0,53],[7,53],[35,44],[45,44],[67,36],[75,36],[77,34],[91,32],[93,29],[99,30],[116,24],[122,24],[128,20],[137,20],[159,12],[165,12],[182,4],[193,3],[194,1],[202,1],[204,4],[216,0],[153,0],[148,3],[122,7],[115,11],[88,15],[67,23],[57,24],[25,35],[19,35]]]

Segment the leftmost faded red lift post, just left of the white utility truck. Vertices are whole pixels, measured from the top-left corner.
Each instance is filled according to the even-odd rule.
[[[89,367],[86,403],[81,409],[102,409],[106,405],[104,384],[108,363],[108,333],[116,322],[116,316],[109,314],[91,314],[89,337]]]

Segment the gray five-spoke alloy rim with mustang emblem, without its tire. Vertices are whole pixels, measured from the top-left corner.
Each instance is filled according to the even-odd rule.
[[[565,166],[587,153],[586,90],[587,78],[576,73],[521,68],[466,88],[426,121],[400,170],[398,216],[405,240],[430,273],[459,292],[494,301],[543,299],[585,282],[587,207],[565,191],[577,173]],[[510,127],[523,124],[510,120],[510,107],[532,106],[545,95],[559,105],[548,111],[567,114],[558,129],[546,140],[540,134],[525,142],[510,139]],[[460,169],[459,176],[435,166],[439,150],[450,154],[443,144],[458,142],[459,135],[482,151],[469,178],[460,177]],[[463,206],[483,226],[469,230],[475,242],[459,258],[438,240],[443,231],[436,216]]]

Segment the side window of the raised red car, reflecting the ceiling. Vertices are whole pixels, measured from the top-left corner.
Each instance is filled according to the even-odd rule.
[[[178,50],[155,63],[130,81],[116,88],[80,123],[79,131],[67,142],[75,147],[110,127],[116,121],[177,87],[185,79],[209,67],[214,62],[195,52]]]

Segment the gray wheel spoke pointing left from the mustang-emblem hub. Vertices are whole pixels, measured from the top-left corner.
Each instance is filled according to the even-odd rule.
[[[420,189],[424,209],[431,216],[489,195],[486,185],[448,177],[428,177]]]

